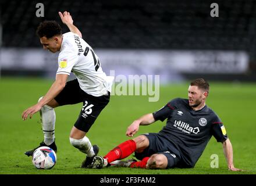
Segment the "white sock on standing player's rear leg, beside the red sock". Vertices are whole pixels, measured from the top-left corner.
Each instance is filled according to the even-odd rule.
[[[84,136],[80,140],[76,140],[74,138],[69,138],[70,144],[72,144],[75,148],[79,149],[79,151],[83,153],[87,153],[88,157],[93,157],[95,155],[93,151],[93,146],[91,145],[91,142],[89,138]]]

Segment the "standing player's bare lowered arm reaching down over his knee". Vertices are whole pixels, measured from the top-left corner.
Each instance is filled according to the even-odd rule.
[[[51,88],[49,88],[47,94],[35,105],[31,106],[30,108],[26,109],[22,113],[22,119],[26,120],[28,116],[31,117],[34,113],[38,112],[44,105],[46,105],[49,101],[54,99],[59,92],[63,90],[66,85],[68,75],[66,74],[56,74],[56,80],[52,84]]]

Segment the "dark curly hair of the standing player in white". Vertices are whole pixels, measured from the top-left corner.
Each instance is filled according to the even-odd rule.
[[[40,23],[37,27],[37,35],[38,37],[47,37],[51,38],[54,35],[61,35],[62,29],[61,26],[55,21],[48,21],[45,20],[44,22]]]

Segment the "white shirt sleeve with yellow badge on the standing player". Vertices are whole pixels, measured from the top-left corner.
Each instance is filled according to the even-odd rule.
[[[74,52],[64,52],[59,55],[58,65],[59,68],[56,74],[70,75],[74,65],[78,62],[78,56]]]

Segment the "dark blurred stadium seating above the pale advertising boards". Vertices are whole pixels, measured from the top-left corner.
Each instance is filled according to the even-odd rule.
[[[240,50],[256,61],[253,0],[40,2],[45,17],[35,19],[38,1],[1,0],[2,47],[41,47],[38,24],[45,19],[61,23],[58,10],[69,10],[95,48]],[[212,2],[219,5],[218,18],[209,15]]]

